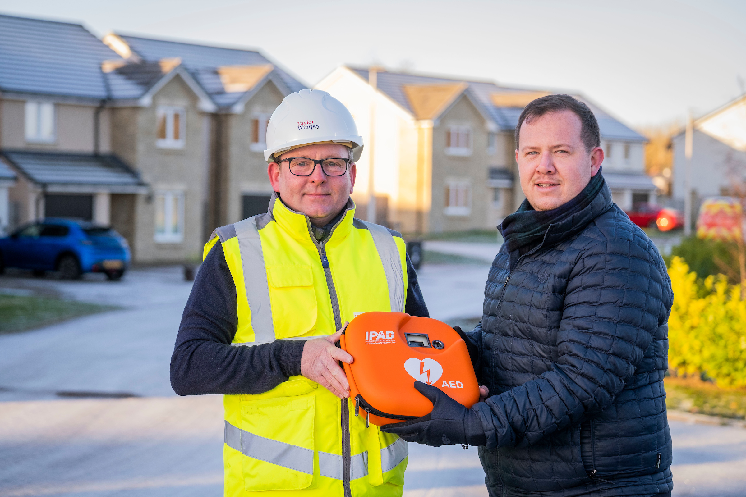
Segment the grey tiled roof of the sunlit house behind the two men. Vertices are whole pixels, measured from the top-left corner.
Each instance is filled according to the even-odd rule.
[[[368,69],[350,67],[353,72],[357,73],[364,80],[368,80]],[[404,95],[404,85],[411,84],[439,84],[439,83],[455,83],[464,82],[468,84],[468,92],[471,99],[480,105],[481,110],[486,115],[489,115],[495,124],[504,131],[515,130],[515,126],[518,124],[518,118],[521,115],[523,109],[517,107],[496,107],[492,104],[492,93],[510,93],[510,92],[526,92],[526,91],[539,91],[539,90],[526,90],[520,88],[510,88],[507,86],[499,86],[495,83],[486,81],[470,81],[460,80],[457,78],[447,77],[434,77],[424,75],[411,75],[401,72],[378,72],[376,76],[376,83],[378,89],[381,92],[389,96],[397,104],[404,107],[404,109],[412,112],[407,96]],[[593,104],[587,98],[582,95],[573,95],[584,101],[591,108],[596,118],[598,119],[598,126],[601,128],[601,136],[606,139],[618,139],[626,140],[630,142],[645,142],[647,139],[635,130],[627,127],[627,125],[621,123],[611,115],[601,110],[597,105]]]

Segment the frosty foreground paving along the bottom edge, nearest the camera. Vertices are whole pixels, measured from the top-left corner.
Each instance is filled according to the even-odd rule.
[[[0,404],[0,495],[220,496],[219,396]],[[671,422],[675,497],[742,497],[746,430]],[[410,444],[405,497],[486,496],[477,450]]]

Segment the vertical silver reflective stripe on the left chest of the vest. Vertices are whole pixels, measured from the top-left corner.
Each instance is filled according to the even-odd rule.
[[[233,224],[241,250],[243,280],[246,286],[246,299],[251,309],[251,328],[258,343],[275,340],[275,326],[272,323],[272,306],[269,304],[269,283],[264,267],[262,242],[257,229],[257,217],[253,216]]]

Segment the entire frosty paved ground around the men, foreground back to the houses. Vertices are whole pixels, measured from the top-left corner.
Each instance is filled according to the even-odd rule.
[[[488,266],[425,265],[433,317],[481,312]],[[180,268],[134,270],[122,282],[0,277],[124,308],[0,336],[1,496],[219,496],[222,403],[178,397],[169,358],[191,285]],[[129,399],[60,399],[60,390]],[[746,495],[746,430],[671,422],[674,496]],[[405,496],[486,496],[474,448],[410,445]]]

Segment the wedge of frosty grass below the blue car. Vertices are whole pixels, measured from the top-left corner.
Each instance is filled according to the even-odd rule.
[[[59,300],[48,297],[22,297],[0,294],[0,335],[25,332],[73,317],[111,311],[116,306]]]

